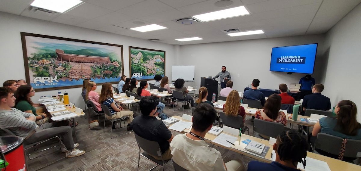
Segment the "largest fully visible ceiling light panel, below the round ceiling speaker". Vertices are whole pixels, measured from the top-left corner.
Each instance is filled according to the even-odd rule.
[[[214,12],[205,13],[205,14],[199,14],[199,15],[195,15],[192,17],[196,18],[197,20],[200,20],[202,22],[207,22],[207,21],[221,20],[221,19],[231,18],[231,17],[238,17],[238,16],[247,15],[247,14],[249,14],[247,9],[244,8],[244,6],[240,6],[240,7],[223,9],[223,10],[214,11]]]

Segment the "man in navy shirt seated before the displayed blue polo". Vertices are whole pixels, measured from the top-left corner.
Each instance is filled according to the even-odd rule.
[[[322,84],[316,84],[312,87],[312,93],[306,95],[302,102],[302,108],[305,111],[306,109],[316,109],[316,110],[325,110],[328,111],[331,109],[330,98],[322,95],[322,91],[325,89],[325,86]]]

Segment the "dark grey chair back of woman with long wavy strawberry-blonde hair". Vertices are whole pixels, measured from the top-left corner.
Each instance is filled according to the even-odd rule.
[[[226,125],[227,127],[235,128],[238,130],[240,128],[242,128],[242,133],[244,133],[247,130],[247,132],[249,134],[248,127],[244,126],[242,116],[237,115],[236,117],[234,117],[234,116],[226,115],[225,112],[219,111],[219,117],[220,117],[223,125]]]

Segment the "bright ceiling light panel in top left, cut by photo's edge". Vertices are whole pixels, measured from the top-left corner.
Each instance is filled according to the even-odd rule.
[[[44,8],[55,12],[63,13],[82,3],[81,0],[34,0],[30,5],[33,7]]]

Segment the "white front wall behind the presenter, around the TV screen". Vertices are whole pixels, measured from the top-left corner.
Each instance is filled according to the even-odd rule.
[[[231,73],[233,89],[244,90],[254,78],[260,80],[260,88],[278,89],[280,83],[298,83],[305,74],[270,72],[271,50],[273,47],[318,43],[316,67],[313,77],[316,82],[324,74],[322,64],[324,35],[242,40],[182,45],[178,65],[195,65],[195,87],[200,86],[200,77],[215,76],[222,65]],[[217,78],[219,80],[219,78]],[[189,83],[188,83],[189,84]]]

